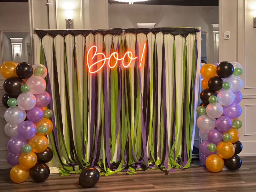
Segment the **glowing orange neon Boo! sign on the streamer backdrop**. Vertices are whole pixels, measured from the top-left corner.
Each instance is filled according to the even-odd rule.
[[[133,53],[131,51],[126,51],[125,54],[123,55],[123,57],[121,57],[121,58],[119,58],[119,55],[117,52],[113,52],[110,54],[109,57],[106,57],[106,55],[104,53],[101,53],[101,52],[98,53],[97,51],[98,51],[98,48],[97,48],[97,46],[94,45],[94,46],[91,46],[87,52],[87,66],[88,66],[88,71],[91,74],[97,73],[98,71],[100,71],[106,64],[107,60],[108,60],[107,64],[108,64],[109,68],[113,69],[114,67],[117,66],[118,61],[122,61],[122,66],[124,68],[127,68],[131,65],[131,62],[133,62],[135,59],[139,59],[138,57],[133,57]],[[141,59],[139,59],[139,61],[140,61],[139,67],[141,67],[141,65],[143,63],[145,54],[146,54],[146,42],[144,43],[144,46],[143,46]],[[90,55],[92,55],[91,59],[89,58]],[[90,61],[92,61],[97,56],[101,56],[102,59],[99,59],[98,61],[90,64]],[[125,59],[127,59],[128,64],[126,64]],[[114,65],[111,65],[112,60],[114,61],[113,62]],[[95,68],[97,68],[97,69],[95,69]]]

